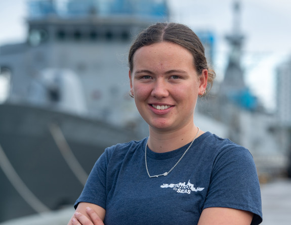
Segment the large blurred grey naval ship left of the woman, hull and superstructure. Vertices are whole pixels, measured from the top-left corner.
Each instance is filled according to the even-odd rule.
[[[127,53],[168,19],[161,0],[30,1],[27,39],[0,47],[0,222],[73,204],[104,149],[139,140]],[[3,90],[2,90],[3,91]]]

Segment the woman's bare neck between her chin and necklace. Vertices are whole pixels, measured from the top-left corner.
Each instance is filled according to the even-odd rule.
[[[187,128],[179,131],[166,132],[150,129],[148,147],[153,152],[170,152],[192,142],[197,134],[197,131],[198,128],[194,123],[191,124],[190,127],[188,126]],[[203,131],[200,130],[197,137],[199,137],[202,133]]]

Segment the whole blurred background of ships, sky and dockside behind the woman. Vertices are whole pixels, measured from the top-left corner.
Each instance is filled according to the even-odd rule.
[[[250,150],[262,224],[291,219],[291,2],[0,2],[0,224],[67,224],[108,146],[147,136],[127,54],[143,28],[190,26],[217,79],[195,124]]]

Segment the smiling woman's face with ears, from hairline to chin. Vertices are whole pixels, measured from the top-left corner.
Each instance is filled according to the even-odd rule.
[[[154,43],[138,49],[130,71],[137,109],[150,128],[174,131],[193,124],[207,70],[197,74],[193,56],[179,44]]]

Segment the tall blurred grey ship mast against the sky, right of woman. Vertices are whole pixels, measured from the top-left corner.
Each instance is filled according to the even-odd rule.
[[[240,107],[243,106],[243,93],[247,89],[240,65],[244,36],[240,30],[240,1],[233,2],[232,32],[226,35],[230,52],[224,80],[220,83],[217,99],[217,118],[228,127],[228,137],[235,143],[241,142]],[[237,107],[240,106],[240,107]]]

